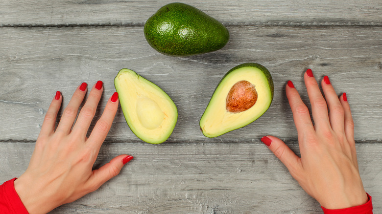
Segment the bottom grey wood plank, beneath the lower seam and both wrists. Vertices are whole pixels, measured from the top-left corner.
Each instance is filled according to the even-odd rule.
[[[295,141],[287,144],[298,151]],[[0,142],[0,180],[22,174],[33,148],[34,143]],[[365,190],[373,197],[374,213],[381,213],[382,144],[358,143],[357,150]],[[51,213],[322,213],[261,142],[107,143],[95,166],[121,153],[134,159],[117,177]]]

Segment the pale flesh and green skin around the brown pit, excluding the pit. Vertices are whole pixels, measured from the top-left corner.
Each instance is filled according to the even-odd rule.
[[[256,102],[246,110],[227,110],[227,95],[240,81],[251,83],[257,92]],[[240,64],[221,79],[200,119],[199,125],[206,137],[217,137],[257,120],[270,107],[273,100],[273,81],[269,71],[261,64]]]

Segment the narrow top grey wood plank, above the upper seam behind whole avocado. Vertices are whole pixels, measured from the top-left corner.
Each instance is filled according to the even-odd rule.
[[[0,0],[0,26],[142,25],[171,1]],[[227,25],[379,25],[380,0],[180,0]]]

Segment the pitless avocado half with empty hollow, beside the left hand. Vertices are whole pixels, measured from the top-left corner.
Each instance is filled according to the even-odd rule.
[[[147,143],[165,142],[178,118],[177,108],[166,92],[126,68],[119,71],[114,85],[133,133]]]

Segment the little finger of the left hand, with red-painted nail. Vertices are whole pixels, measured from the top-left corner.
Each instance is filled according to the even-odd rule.
[[[61,103],[62,103],[61,92],[57,91],[52,102],[50,103],[47,113],[45,114],[43,125],[40,131],[41,135],[47,136],[47,135],[51,135],[54,132],[54,128],[56,128],[57,114],[58,114],[58,111],[60,110]]]

